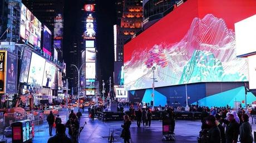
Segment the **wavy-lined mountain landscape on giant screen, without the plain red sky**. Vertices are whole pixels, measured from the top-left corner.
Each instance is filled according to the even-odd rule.
[[[138,48],[145,49],[145,48]],[[184,38],[136,50],[125,65],[127,90],[210,81],[248,81],[247,59],[235,54],[235,33],[224,20],[207,14],[194,18]]]

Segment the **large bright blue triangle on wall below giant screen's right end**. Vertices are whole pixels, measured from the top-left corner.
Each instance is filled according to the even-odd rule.
[[[208,96],[206,98],[203,98],[199,100],[199,105],[200,106],[231,106],[232,108],[234,107],[234,101],[242,101],[245,100],[245,90],[244,86],[241,86],[239,88],[235,88],[232,90],[224,91],[223,93],[218,93],[214,94],[211,96]],[[253,101],[256,101],[256,97],[248,92],[247,93],[247,104],[252,104]],[[193,103],[196,105],[196,102]],[[245,104],[242,103],[242,106],[244,107]]]

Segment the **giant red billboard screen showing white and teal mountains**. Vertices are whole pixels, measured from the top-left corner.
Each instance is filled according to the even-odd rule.
[[[243,3],[243,4],[242,4]],[[186,1],[124,45],[127,90],[186,83],[248,81],[235,53],[234,23],[256,14],[256,1]]]

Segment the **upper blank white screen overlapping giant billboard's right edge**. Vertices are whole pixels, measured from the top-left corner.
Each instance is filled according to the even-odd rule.
[[[235,23],[237,56],[256,53],[256,15]]]

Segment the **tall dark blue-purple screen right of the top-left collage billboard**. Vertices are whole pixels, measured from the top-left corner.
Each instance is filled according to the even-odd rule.
[[[50,29],[43,25],[43,52],[52,55],[52,32]]]

